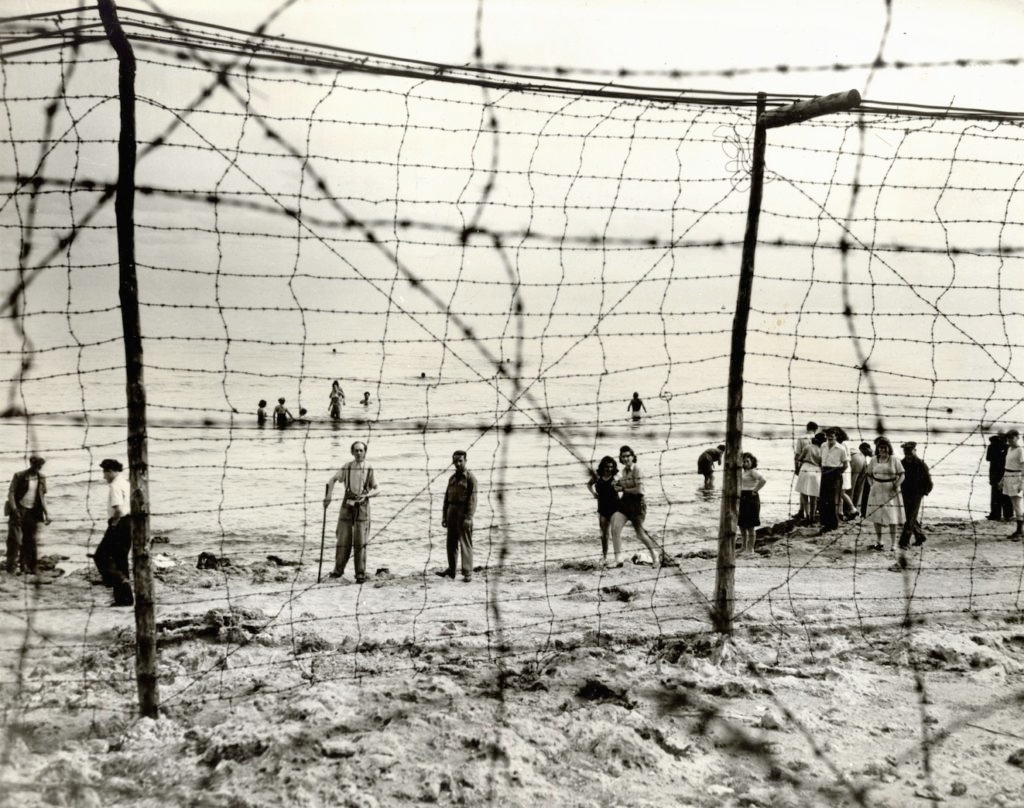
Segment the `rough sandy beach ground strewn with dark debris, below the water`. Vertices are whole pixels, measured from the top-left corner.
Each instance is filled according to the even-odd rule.
[[[727,642],[712,541],[361,587],[157,546],[158,720],[91,570],[4,577],[0,805],[1024,805],[1022,545],[926,526],[905,572],[772,537]]]

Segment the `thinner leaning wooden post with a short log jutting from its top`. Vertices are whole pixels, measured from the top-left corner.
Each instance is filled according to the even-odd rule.
[[[765,148],[768,130],[799,123],[860,103],[856,90],[824,95],[788,107],[765,112],[765,94],[758,93],[757,122],[754,126],[754,155],[751,163],[751,197],[746,208],[746,232],[739,264],[739,288],[736,293],[736,313],[732,318],[732,352],[729,356],[729,400],[725,423],[725,479],[722,483],[722,514],[718,531],[718,567],[715,575],[715,599],[712,621],[715,631],[732,632],[732,606],[736,573],[736,520],[739,514],[739,455],[743,437],[743,360],[746,358],[746,323],[754,290],[754,252],[758,243],[758,220],[764,188]]]

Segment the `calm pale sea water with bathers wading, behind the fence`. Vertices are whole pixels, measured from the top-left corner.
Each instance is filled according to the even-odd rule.
[[[728,357],[695,373],[667,355],[663,342],[634,338],[625,352],[621,344],[610,352],[605,346],[604,362],[607,353],[615,359],[601,372],[593,346],[567,343],[557,350],[549,340],[548,355],[562,358],[544,374],[529,344],[494,355],[472,344],[340,342],[303,349],[208,341],[182,352],[180,344],[155,341],[146,351],[145,379],[156,550],[318,563],[323,542],[329,569],[341,490],[327,509],[325,490],[351,459],[354,440],[369,444],[380,486],[372,503],[372,569],[408,573],[444,566],[441,502],[455,450],[468,451],[479,482],[477,563],[493,561],[498,549],[509,563],[596,558],[597,516],[586,483],[597,461],[616,458],[624,444],[639,458],[650,533],[670,554],[713,547],[722,475],[717,472],[714,491],[705,491],[696,459],[724,442]],[[40,399],[53,412],[37,405],[30,418],[0,421],[6,478],[30,451],[47,460],[53,523],[44,528],[42,552],[67,555],[70,564],[87,563],[102,536],[106,492],[99,461],[118,458],[127,467],[123,369],[116,351],[108,359],[97,373],[79,364],[55,374]],[[43,367],[56,370],[52,359],[37,362],[40,375]],[[655,367],[640,367],[645,365]],[[925,418],[898,385],[869,399],[864,390],[851,389],[848,371],[834,376],[819,375],[817,391],[802,386],[795,401],[769,383],[777,369],[748,359],[742,448],[759,457],[768,480],[762,523],[781,521],[799,506],[793,444],[807,420],[844,427],[853,448],[874,436],[880,415],[893,442],[916,440],[932,467],[936,487],[926,500],[926,525],[987,513],[987,441],[979,429],[965,428],[970,419],[964,408],[948,421],[936,407]],[[338,420],[328,414],[333,379],[346,395]],[[646,407],[636,421],[627,410],[634,391]],[[305,417],[286,429],[274,428],[272,418],[257,426],[257,400],[266,399],[272,412],[279,397],[293,416],[306,409]],[[84,407],[69,415],[76,399]],[[871,408],[872,400],[883,401],[885,412]],[[629,533],[627,549],[635,544],[639,551]]]

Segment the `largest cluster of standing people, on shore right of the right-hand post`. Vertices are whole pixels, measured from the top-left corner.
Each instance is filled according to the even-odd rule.
[[[882,537],[889,531],[889,549],[905,549],[913,540],[921,546],[927,540],[921,526],[921,505],[932,493],[928,466],[918,457],[918,444],[900,444],[903,458],[894,456],[889,438],[862,442],[856,450],[845,445],[847,436],[839,427],[823,431],[811,421],[807,433],[797,440],[794,450],[796,490],[800,495],[797,519],[817,524],[820,534],[839,526],[840,519],[861,516],[874,525],[872,550],[884,550]],[[897,543],[897,528],[901,528]]]

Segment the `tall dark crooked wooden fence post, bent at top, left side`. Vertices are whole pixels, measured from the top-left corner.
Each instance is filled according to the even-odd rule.
[[[119,293],[127,377],[131,545],[135,584],[135,681],[139,713],[156,718],[160,698],[157,694],[157,622],[150,560],[150,461],[145,435],[138,279],[135,273],[135,54],[121,28],[114,0],[97,0],[97,3],[106,38],[118,55],[121,100],[118,190],[114,210],[118,228]]]

